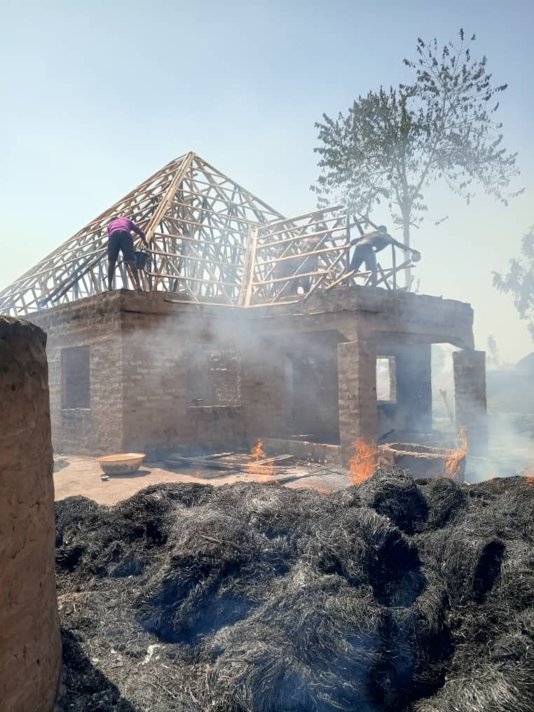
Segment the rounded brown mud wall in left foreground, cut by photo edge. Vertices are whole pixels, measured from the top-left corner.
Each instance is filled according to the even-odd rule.
[[[46,336],[0,317],[0,708],[51,712],[61,639],[56,602]]]

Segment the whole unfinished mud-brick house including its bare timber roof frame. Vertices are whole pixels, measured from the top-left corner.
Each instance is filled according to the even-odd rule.
[[[150,241],[106,284],[106,225]],[[0,293],[48,333],[56,451],[250,449],[345,461],[357,438],[427,443],[431,345],[454,353],[456,423],[486,439],[471,306],[410,293],[411,263],[350,271],[341,206],[286,218],[194,153],[164,167]],[[380,253],[382,257],[384,253]]]

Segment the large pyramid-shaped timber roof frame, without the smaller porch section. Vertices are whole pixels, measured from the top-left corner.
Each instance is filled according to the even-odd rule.
[[[0,292],[0,311],[27,315],[107,288],[106,226],[132,217],[150,241],[150,290],[239,303],[248,236],[281,213],[194,152],[169,162]],[[130,288],[124,263],[116,288]],[[148,282],[148,283],[147,283]]]

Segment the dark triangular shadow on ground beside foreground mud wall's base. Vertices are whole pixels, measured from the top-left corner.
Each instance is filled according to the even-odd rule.
[[[61,641],[63,674],[56,712],[72,709],[76,712],[94,712],[97,709],[138,712],[121,696],[117,687],[93,666],[73,633],[62,629]]]

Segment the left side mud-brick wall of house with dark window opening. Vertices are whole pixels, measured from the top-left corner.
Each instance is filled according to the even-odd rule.
[[[32,317],[48,335],[52,439],[56,452],[99,455],[122,449],[119,297],[120,293],[99,295]],[[66,407],[69,401],[65,393],[64,350],[73,347],[89,349],[88,408]]]

